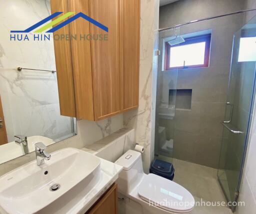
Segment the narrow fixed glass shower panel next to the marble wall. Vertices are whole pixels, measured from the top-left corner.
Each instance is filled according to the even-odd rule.
[[[155,108],[155,158],[172,162],[177,69],[165,69],[165,51],[169,41],[177,41],[179,28],[159,32],[157,89]]]

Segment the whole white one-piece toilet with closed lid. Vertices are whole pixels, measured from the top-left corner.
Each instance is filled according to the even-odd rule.
[[[190,214],[193,210],[194,198],[185,188],[160,176],[144,174],[139,152],[128,150],[115,164],[123,167],[116,181],[118,193],[140,204],[142,214]]]

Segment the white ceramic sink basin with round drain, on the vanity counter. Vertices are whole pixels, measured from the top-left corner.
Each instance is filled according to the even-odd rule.
[[[56,151],[41,166],[33,161],[0,177],[0,207],[9,214],[38,212],[99,167],[100,159],[87,152],[73,148]]]

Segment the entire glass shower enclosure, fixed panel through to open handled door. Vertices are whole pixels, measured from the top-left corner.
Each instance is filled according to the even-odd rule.
[[[175,158],[216,169],[228,202],[238,200],[255,96],[256,16],[244,25],[246,12],[158,32],[155,158],[170,163]],[[200,70],[167,69],[167,43],[199,33],[212,36],[209,65]],[[184,133],[188,137],[183,137]],[[235,203],[230,208],[234,212]]]

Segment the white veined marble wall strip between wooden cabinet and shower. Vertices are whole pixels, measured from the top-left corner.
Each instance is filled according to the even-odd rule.
[[[153,153],[154,135],[154,75],[152,67],[154,30],[158,29],[159,0],[141,0],[140,6],[140,65],[139,106],[123,114],[124,126],[135,129],[135,142],[144,146],[142,155],[144,172],[148,172]],[[154,120],[154,119],[153,119]]]

